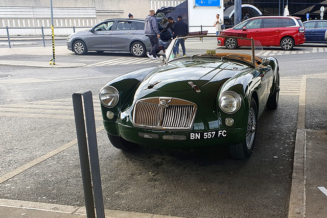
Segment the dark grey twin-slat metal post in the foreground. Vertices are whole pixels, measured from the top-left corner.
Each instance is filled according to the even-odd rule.
[[[79,91],[73,94],[73,104],[74,104],[74,114],[75,114],[75,123],[76,123],[76,132],[77,132],[77,140],[78,146],[80,149],[81,143],[81,150],[83,150],[83,154],[81,155],[81,169],[82,169],[82,176],[83,170],[85,177],[83,176],[83,186],[84,180],[87,181],[86,186],[84,186],[84,195],[85,195],[85,204],[86,206],[91,206],[92,204],[92,211],[93,213],[90,215],[94,215],[94,207],[93,207],[93,197],[89,196],[89,181],[90,176],[89,173],[89,165],[88,165],[88,156],[87,156],[87,145],[86,145],[86,135],[85,135],[85,125],[84,125],[84,116],[83,116],[83,105],[82,105],[82,95],[84,99],[84,108],[85,108],[85,118],[86,118],[86,128],[87,128],[87,142],[88,142],[88,150],[90,156],[90,164],[91,164],[91,176],[92,182],[94,187],[94,197],[95,197],[95,205],[96,205],[96,212],[98,218],[104,218],[104,206],[103,206],[103,196],[102,196],[102,186],[101,186],[101,176],[100,176],[100,166],[99,166],[99,155],[98,155],[98,144],[97,144],[97,133],[96,133],[96,124],[94,118],[94,108],[93,108],[93,99],[91,91]],[[86,154],[85,154],[86,153]],[[85,157],[87,156],[87,157]],[[82,160],[83,158],[83,160]],[[83,168],[82,168],[82,161],[83,161]],[[85,164],[87,163],[87,166]],[[85,167],[87,169],[85,169]],[[87,177],[87,178],[86,178]],[[86,189],[85,189],[86,187]],[[86,194],[88,195],[88,202],[86,202]],[[89,208],[90,211],[90,208]],[[87,215],[89,218],[89,216]],[[94,216],[90,216],[93,218]]]

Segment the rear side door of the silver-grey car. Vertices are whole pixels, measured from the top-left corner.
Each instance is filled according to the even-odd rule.
[[[111,34],[112,49],[115,51],[129,51],[129,41],[137,27],[131,20],[119,20]]]

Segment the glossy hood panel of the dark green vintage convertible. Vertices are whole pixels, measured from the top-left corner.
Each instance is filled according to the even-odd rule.
[[[192,90],[192,82],[201,88],[210,81],[227,80],[240,74],[240,70],[245,70],[247,66],[235,66],[228,62],[225,63],[200,63],[196,66],[176,66],[167,64],[152,71],[142,82],[139,88],[156,89],[164,92],[182,92]],[[148,88],[147,88],[148,87]]]

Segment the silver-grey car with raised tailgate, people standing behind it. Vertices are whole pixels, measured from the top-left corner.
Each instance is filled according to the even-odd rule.
[[[159,31],[164,29],[165,15],[174,7],[164,7],[156,11]],[[156,53],[166,50],[171,39],[159,39]],[[67,49],[76,55],[88,51],[130,52],[135,57],[145,57],[151,51],[151,43],[144,34],[144,19],[107,19],[89,30],[72,33],[67,37]]]

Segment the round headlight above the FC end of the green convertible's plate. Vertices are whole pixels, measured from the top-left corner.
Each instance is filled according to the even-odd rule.
[[[235,113],[241,107],[241,96],[236,92],[226,91],[220,96],[218,104],[225,113]]]

